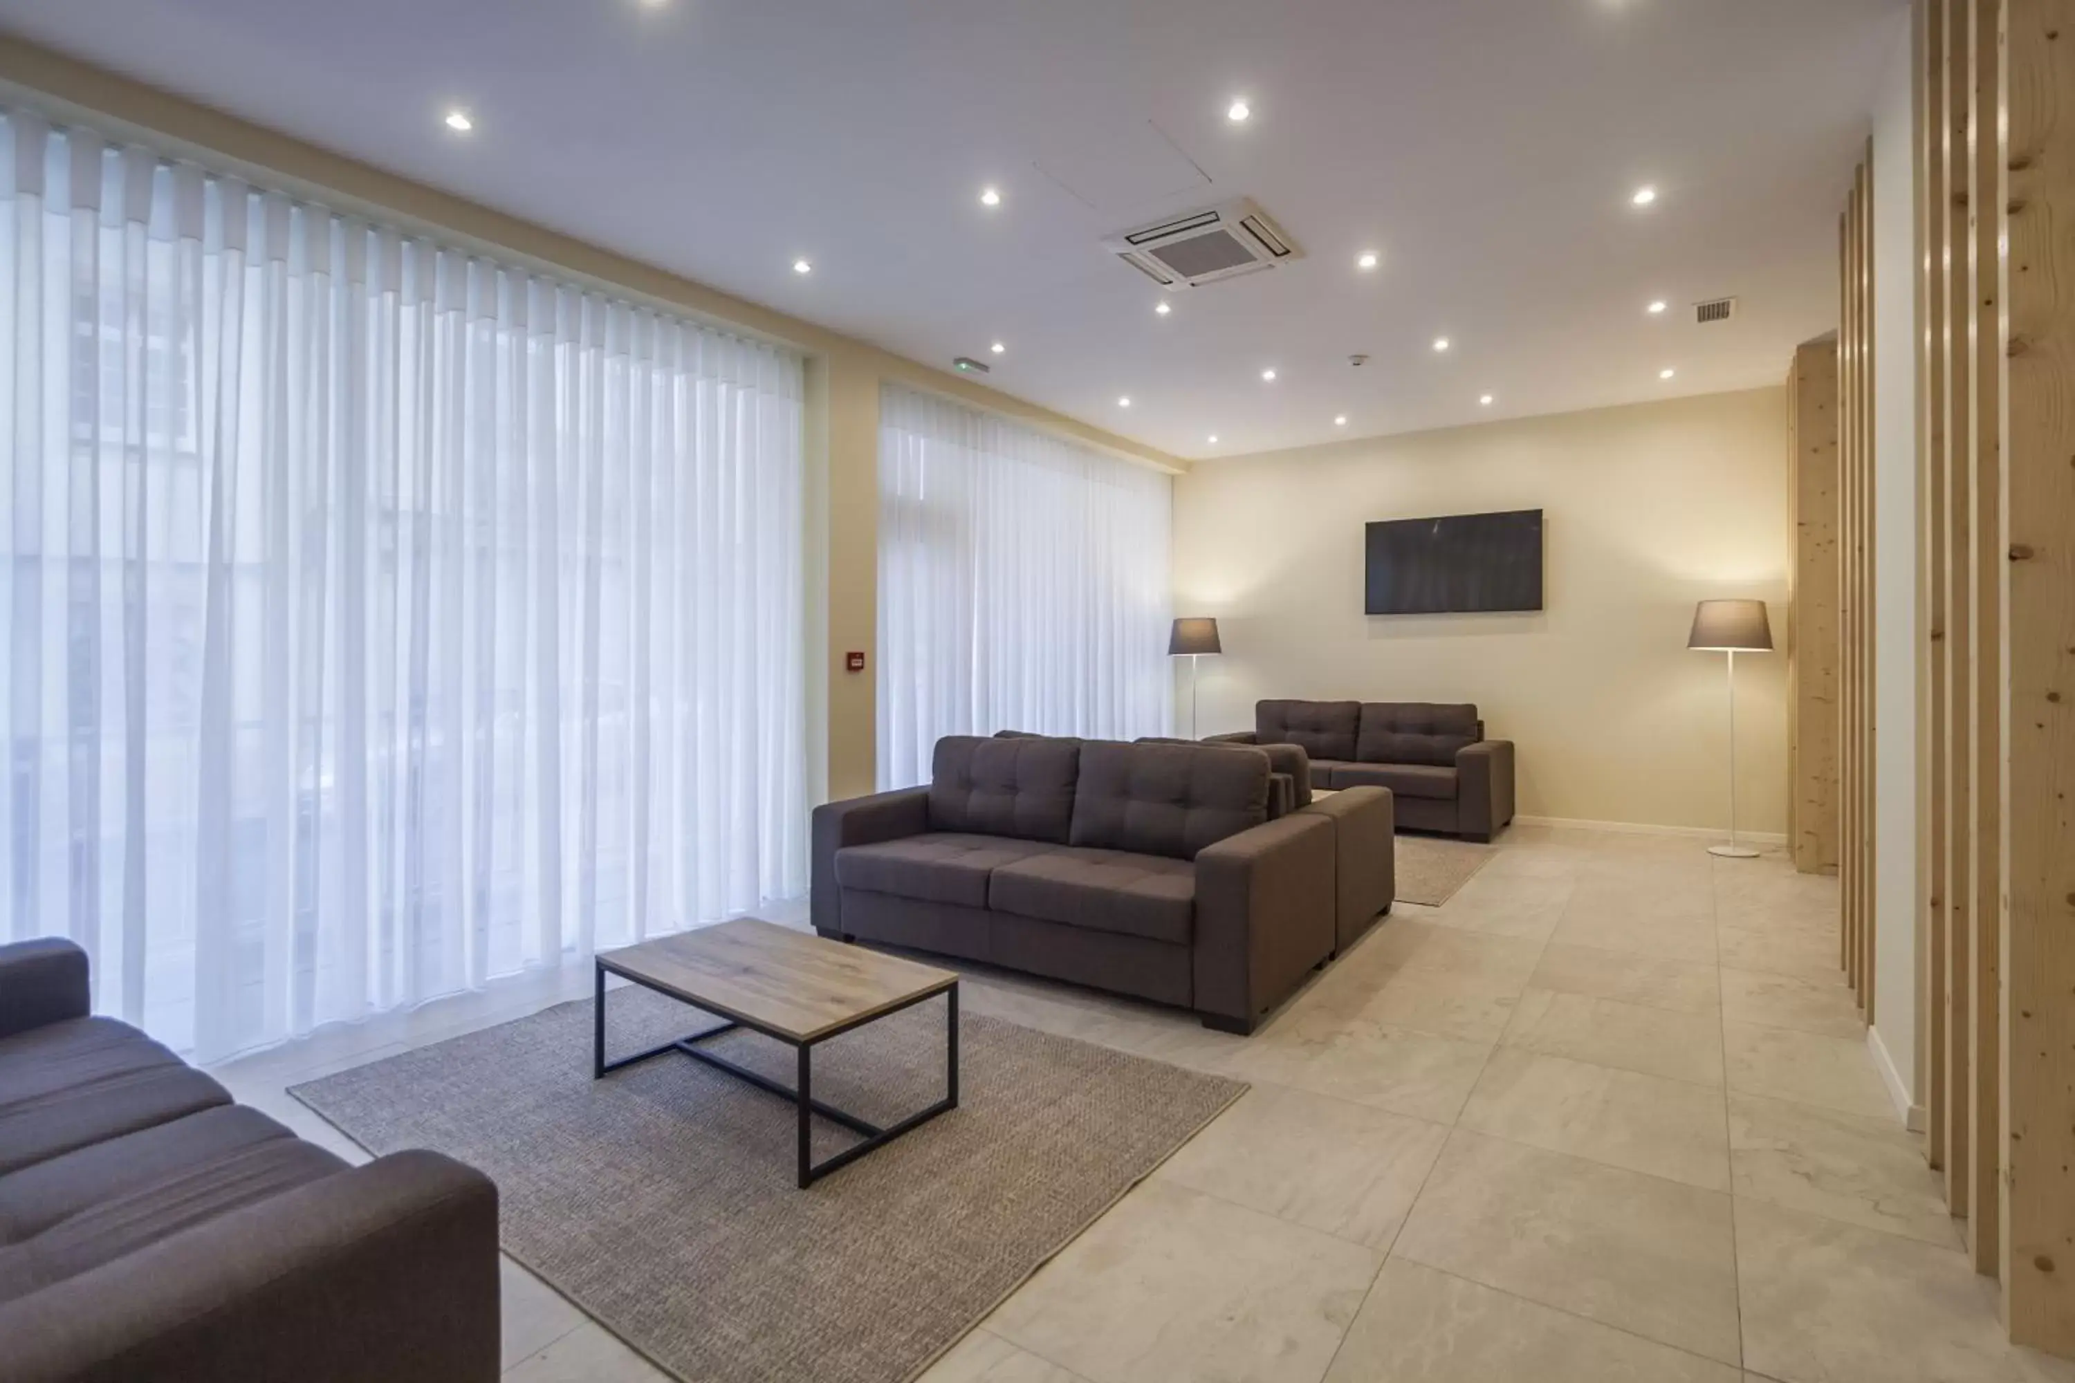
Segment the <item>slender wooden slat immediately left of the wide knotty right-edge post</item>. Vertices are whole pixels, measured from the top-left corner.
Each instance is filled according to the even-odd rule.
[[[1994,1273],[2000,1234],[2000,966],[2002,916],[2002,15],[1967,0],[1967,1248]],[[1955,452],[1961,448],[1955,446]],[[1957,496],[1955,496],[1957,502]],[[1955,647],[1957,653],[1957,647]]]

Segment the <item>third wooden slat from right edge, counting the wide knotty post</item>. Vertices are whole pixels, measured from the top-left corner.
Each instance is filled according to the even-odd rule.
[[[1944,1082],[1951,1118],[1946,1122],[1944,1174],[1946,1205],[1965,1215],[1971,1192],[1971,1126],[1969,1126],[1969,1055],[1973,1049],[1971,1010],[1971,945],[1973,885],[1969,848],[1973,842],[1973,809],[1969,802],[1971,771],[1967,763],[1969,717],[1973,705],[1971,664],[1971,570],[1967,533],[1967,462],[1969,392],[1967,332],[1973,323],[1967,284],[1967,93],[1973,85],[1967,41],[1967,0],[1942,0],[1944,25],[1944,95],[1942,158],[1944,218],[1938,230],[1938,292],[1942,297],[1942,338],[1938,361],[1944,373],[1944,429],[1938,456],[1938,483],[1946,518],[1944,562],[1944,780],[1946,780],[1946,842],[1944,842],[1944,925],[1946,925],[1946,1047]]]

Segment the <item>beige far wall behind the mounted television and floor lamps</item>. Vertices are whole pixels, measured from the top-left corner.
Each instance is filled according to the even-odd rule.
[[[1546,512],[1542,614],[1370,618],[1363,523]],[[1787,392],[1712,394],[1206,460],[1174,481],[1174,614],[1218,616],[1204,734],[1260,697],[1475,701],[1519,744],[1519,811],[1726,823],[1720,653],[1693,601],[1787,618]],[[1181,680],[1187,719],[1187,678]],[[1739,657],[1739,825],[1787,823],[1785,655]]]

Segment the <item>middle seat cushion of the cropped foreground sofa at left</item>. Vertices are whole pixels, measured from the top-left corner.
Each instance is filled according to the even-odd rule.
[[[35,1238],[62,1219],[156,1186],[189,1167],[293,1136],[257,1109],[216,1105],[48,1157],[0,1176],[0,1246]]]

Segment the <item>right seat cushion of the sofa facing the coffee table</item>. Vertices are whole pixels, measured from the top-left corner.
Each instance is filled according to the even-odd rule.
[[[1187,945],[1195,931],[1195,865],[1127,850],[1050,850],[996,869],[988,906],[1040,923]]]

